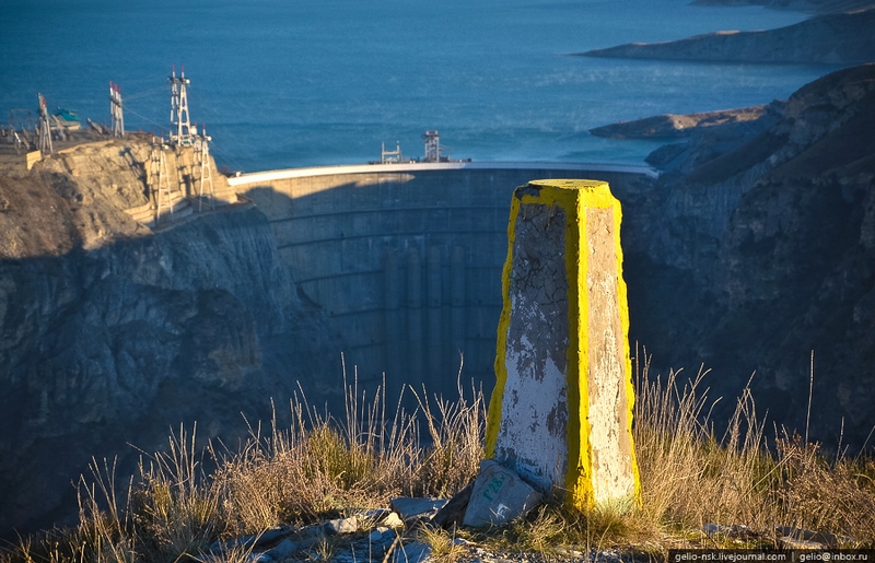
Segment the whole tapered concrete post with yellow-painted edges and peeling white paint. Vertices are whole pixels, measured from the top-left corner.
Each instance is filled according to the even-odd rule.
[[[581,508],[640,495],[619,231],[607,183],[514,192],[487,455]]]

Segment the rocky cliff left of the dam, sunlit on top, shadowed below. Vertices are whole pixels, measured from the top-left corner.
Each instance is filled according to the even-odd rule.
[[[298,379],[317,403],[338,387],[339,352],[260,211],[177,213],[158,231],[125,211],[149,207],[149,151],[104,141],[0,173],[2,537],[74,516],[91,456],[119,456],[125,474],[128,443],[151,451],[201,421],[198,438],[233,444],[241,413],[277,397],[282,414]]]

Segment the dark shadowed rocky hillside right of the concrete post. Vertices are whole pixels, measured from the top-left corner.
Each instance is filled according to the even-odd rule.
[[[732,402],[860,447],[875,425],[875,66],[841,70],[756,121],[695,127],[651,155],[656,189],[620,193],[633,341],[712,368]],[[732,407],[731,404],[727,404]],[[842,429],[843,427],[843,429]],[[872,443],[870,443],[872,446]]]

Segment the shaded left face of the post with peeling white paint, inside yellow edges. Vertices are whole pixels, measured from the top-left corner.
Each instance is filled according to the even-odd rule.
[[[526,206],[509,258],[508,378],[495,457],[542,492],[568,471],[565,219],[561,208]]]

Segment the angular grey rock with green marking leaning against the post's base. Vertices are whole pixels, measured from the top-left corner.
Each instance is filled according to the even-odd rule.
[[[541,499],[515,471],[486,459],[480,464],[463,524],[478,528],[503,526],[527,514]]]

